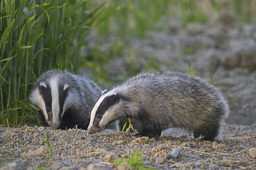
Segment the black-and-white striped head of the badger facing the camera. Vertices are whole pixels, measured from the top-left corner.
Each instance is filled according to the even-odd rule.
[[[69,107],[68,84],[58,84],[58,79],[50,78],[38,83],[30,95],[30,101],[44,113],[50,127],[58,129],[65,110]]]

